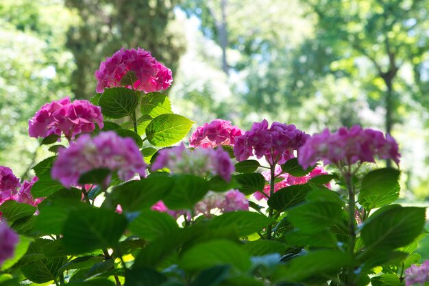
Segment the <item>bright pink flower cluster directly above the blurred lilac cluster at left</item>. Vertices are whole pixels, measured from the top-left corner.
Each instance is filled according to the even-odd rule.
[[[75,100],[72,103],[66,97],[40,107],[28,121],[28,133],[34,138],[64,134],[68,140],[73,140],[80,133],[93,132],[95,124],[100,129],[104,126],[101,107],[86,100]]]

